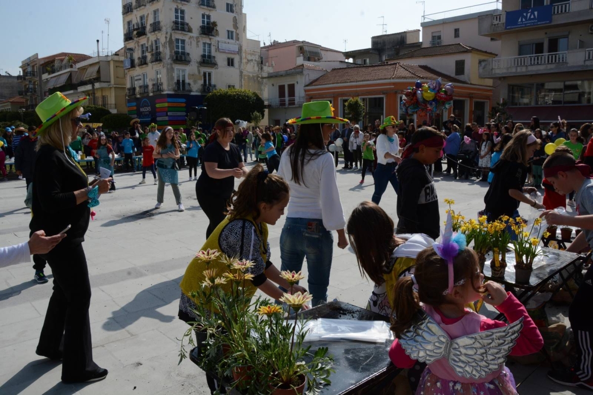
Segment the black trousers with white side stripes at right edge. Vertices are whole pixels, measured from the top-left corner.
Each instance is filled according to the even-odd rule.
[[[592,266],[593,267],[593,266]],[[572,300],[568,309],[568,319],[570,327],[575,334],[576,352],[578,360],[575,364],[576,374],[583,381],[591,378],[591,356],[593,355],[593,316],[586,313],[591,306],[593,299],[593,269],[589,267],[585,273],[585,278],[576,291],[575,298]]]

